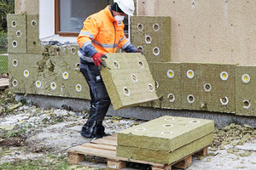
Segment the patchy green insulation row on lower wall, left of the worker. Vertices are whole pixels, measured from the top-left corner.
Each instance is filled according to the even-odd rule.
[[[90,99],[89,86],[79,67],[58,55],[11,54],[9,71],[10,82],[18,82],[11,84],[14,93]],[[27,77],[24,71],[29,72]]]

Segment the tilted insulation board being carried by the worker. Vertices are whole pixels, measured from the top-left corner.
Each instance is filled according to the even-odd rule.
[[[103,59],[106,68],[102,66],[101,74],[114,110],[158,99],[148,62],[142,54],[106,55],[108,59]]]

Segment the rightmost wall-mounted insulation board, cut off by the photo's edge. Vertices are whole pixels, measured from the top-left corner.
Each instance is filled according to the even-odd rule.
[[[255,71],[255,66],[236,66],[236,115],[256,116]]]

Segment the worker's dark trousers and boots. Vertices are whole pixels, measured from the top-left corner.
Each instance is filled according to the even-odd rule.
[[[85,138],[97,138],[106,135],[102,121],[107,114],[110,99],[107,89],[102,81],[102,76],[94,63],[80,65],[80,71],[85,77],[90,87],[90,111],[88,121],[81,130],[81,135]]]

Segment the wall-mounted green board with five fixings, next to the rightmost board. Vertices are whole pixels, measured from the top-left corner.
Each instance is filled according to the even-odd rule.
[[[185,110],[235,113],[236,65],[182,63]]]

